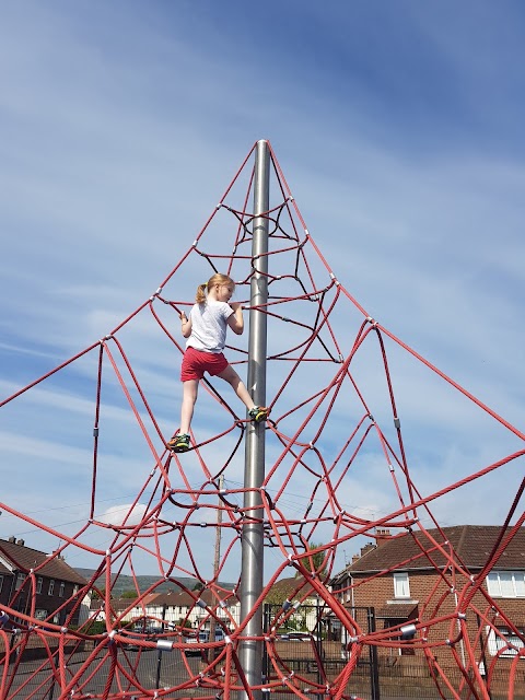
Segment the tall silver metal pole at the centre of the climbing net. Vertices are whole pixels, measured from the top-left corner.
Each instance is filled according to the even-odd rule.
[[[270,158],[268,143],[258,141],[255,153],[254,222],[250,281],[247,388],[257,406],[266,406],[267,316],[257,310],[268,301],[268,219],[259,214],[269,209]],[[245,520],[242,533],[241,620],[253,611],[262,592],[264,524],[259,489],[265,478],[265,424],[248,423],[244,467]],[[262,609],[247,622],[241,640],[240,661],[249,688],[262,677]],[[261,693],[257,693],[259,697]],[[247,697],[247,693],[244,693]]]

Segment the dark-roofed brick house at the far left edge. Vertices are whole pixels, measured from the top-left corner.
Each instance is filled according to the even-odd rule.
[[[46,555],[25,546],[23,539],[0,539],[0,607],[47,620],[75,626],[89,615],[85,579],[60,555]],[[22,623],[22,617],[13,621]]]

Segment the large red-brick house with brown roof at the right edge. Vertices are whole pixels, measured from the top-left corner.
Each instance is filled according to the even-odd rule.
[[[525,644],[525,527],[505,541],[511,532],[457,525],[392,536],[377,529],[375,542],[331,580],[334,595],[350,616],[373,610],[375,629],[393,630],[392,648],[380,654],[420,653],[424,635],[440,656],[454,646],[463,660],[472,650],[488,662],[514,657]],[[399,643],[407,630],[412,645]]]

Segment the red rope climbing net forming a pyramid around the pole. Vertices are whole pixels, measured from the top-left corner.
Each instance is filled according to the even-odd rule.
[[[502,598],[489,595],[486,579],[510,548],[523,551],[523,482],[516,475],[523,474],[524,434],[353,299],[307,231],[269,148],[267,304],[249,308],[250,279],[259,271],[252,257],[252,150],[155,293],[113,322],[101,340],[0,404],[3,424],[16,436],[14,447],[2,441],[12,475],[5,477],[11,500],[0,505],[3,518],[12,518],[13,527],[31,526],[54,549],[45,561],[26,565],[16,590],[1,598],[2,698],[230,698],[237,691],[369,697],[358,672],[371,651],[380,663],[386,652],[390,661],[405,653],[420,656],[442,698],[489,698],[491,684],[514,697],[523,678],[523,629]],[[237,599],[241,537],[255,515],[243,505],[247,420],[231,387],[205,377],[192,421],[195,448],[174,455],[165,447],[180,402],[178,315],[191,307],[197,284],[217,271],[236,281],[245,318],[249,311],[266,314],[268,323],[270,416],[258,490],[265,585],[258,614],[265,600],[275,605],[265,617],[266,675],[258,687],[248,687],[238,663],[247,623]],[[232,336],[225,354],[244,377],[246,342]],[[468,424],[478,440],[486,438],[482,450],[451,455],[450,435],[428,440],[443,430],[433,427],[431,409],[444,397],[452,407],[451,431],[462,433]],[[57,422],[60,445],[52,445],[52,459],[46,460]],[[440,441],[443,450],[435,454]],[[14,480],[27,466],[31,479],[23,497],[18,482],[16,497]],[[65,483],[74,485],[82,502],[75,522],[56,524],[56,504],[44,510],[39,493],[49,481],[57,501]],[[501,523],[491,528],[493,538],[478,552],[474,572],[440,523],[460,523],[462,504],[481,499],[483,508],[497,489]],[[20,502],[25,512],[18,510]],[[378,551],[386,536],[410,545],[401,549],[412,553],[399,555],[382,571],[340,574],[347,552],[365,542]],[[94,573],[63,598],[58,612],[43,612],[36,603],[39,571],[63,560],[71,567],[92,562]],[[408,627],[398,619],[377,619],[373,628],[363,623],[358,607],[374,605],[373,584],[381,590],[388,581],[383,597],[393,597],[393,574],[413,569],[430,572],[432,584],[417,596],[411,592],[418,614]],[[145,590],[138,571],[152,574]],[[122,607],[113,592],[124,576],[135,595]],[[283,578],[287,595],[276,604],[276,582]],[[173,600],[186,600],[173,607],[171,619],[168,598],[156,614],[149,606],[165,584]],[[514,584],[523,596],[525,583]],[[98,596],[98,606],[83,615],[88,594]],[[313,603],[314,622],[306,612],[302,618],[310,640],[337,639],[342,649],[340,663],[330,666],[314,644],[315,674],[292,668],[281,641],[301,608]],[[101,618],[104,629],[96,631],[93,622]],[[149,635],[150,627],[162,628],[162,639]],[[131,635],[133,629],[139,631]],[[215,629],[222,633],[213,641]],[[197,663],[188,650],[203,630],[211,637],[200,644],[206,654]],[[22,674],[24,653],[34,646],[44,652]],[[152,649],[171,660],[164,664],[177,664],[162,682],[143,673],[141,658]]]

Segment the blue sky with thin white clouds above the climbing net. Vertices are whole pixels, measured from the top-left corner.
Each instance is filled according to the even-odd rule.
[[[24,0],[0,2],[0,16],[2,396],[148,299],[267,138],[346,289],[523,430],[521,3]],[[168,431],[178,366],[135,332]],[[92,408],[90,362],[2,409],[2,500],[67,534],[91,498],[68,418],[73,404]],[[398,372],[405,405],[428,419],[407,425],[423,491],[518,448],[453,393],[427,394],[400,357]],[[128,420],[113,409],[117,425]],[[102,510],[143,482],[127,433],[112,440]],[[514,463],[445,503],[440,522],[502,522],[522,474]],[[375,517],[394,508],[369,486],[354,485],[350,505]],[[0,536],[12,534],[56,546],[3,513]]]

